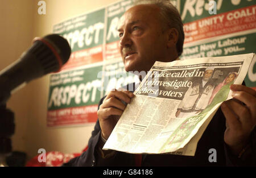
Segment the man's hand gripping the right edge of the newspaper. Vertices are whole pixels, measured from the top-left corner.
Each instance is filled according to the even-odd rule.
[[[221,110],[226,118],[224,141],[238,155],[249,141],[256,125],[256,91],[243,85],[231,85],[232,97]]]

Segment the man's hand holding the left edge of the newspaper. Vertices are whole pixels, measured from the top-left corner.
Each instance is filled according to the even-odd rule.
[[[109,92],[98,110],[98,120],[100,122],[102,136],[108,139],[112,133],[118,119],[123,114],[126,105],[129,104],[134,94],[129,91],[114,90]],[[122,100],[122,101],[121,101]]]

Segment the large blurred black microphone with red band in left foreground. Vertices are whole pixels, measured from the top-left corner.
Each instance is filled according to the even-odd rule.
[[[59,72],[67,63],[71,48],[66,39],[57,34],[36,38],[32,46],[18,60],[0,72],[0,105],[6,103],[18,86],[50,72]]]

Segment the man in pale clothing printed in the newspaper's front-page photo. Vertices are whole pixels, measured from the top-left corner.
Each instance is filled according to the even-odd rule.
[[[213,71],[214,67],[208,67],[205,69],[203,80],[199,78],[193,81],[177,107],[177,118],[198,114],[207,107],[214,89],[214,82],[211,80]]]

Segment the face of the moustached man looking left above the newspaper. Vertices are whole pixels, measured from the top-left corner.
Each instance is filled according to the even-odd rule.
[[[119,50],[126,71],[149,71],[156,60],[164,61],[167,38],[154,5],[131,7],[118,26]]]

